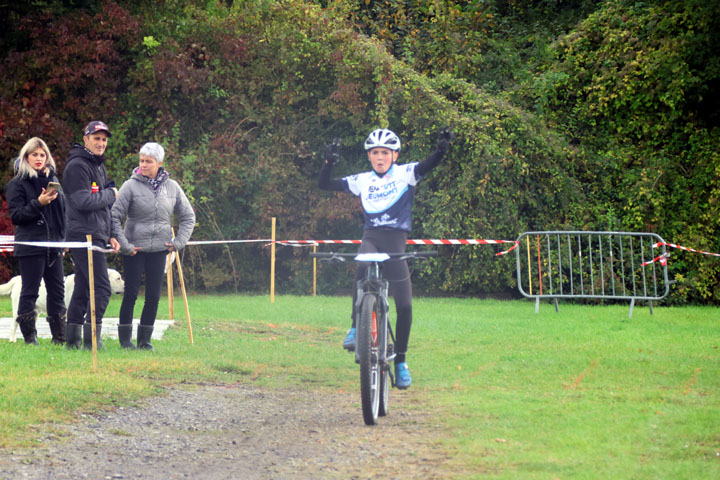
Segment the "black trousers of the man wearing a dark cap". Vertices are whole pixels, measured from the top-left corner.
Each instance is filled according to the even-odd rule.
[[[90,277],[88,255],[85,248],[71,248],[75,262],[75,288],[68,306],[67,323],[82,325],[90,322]],[[93,280],[95,281],[95,323],[102,323],[105,309],[110,303],[110,278],[107,274],[107,259],[101,252],[92,252]]]

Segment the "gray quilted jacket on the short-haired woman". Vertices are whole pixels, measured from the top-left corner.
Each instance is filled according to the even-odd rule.
[[[195,212],[190,202],[175,180],[167,174],[158,178],[161,183],[154,191],[147,178],[136,169],[120,187],[112,208],[112,221],[121,253],[128,254],[135,247],[142,248],[142,252],[159,252],[167,250],[166,242],[172,242],[175,250],[180,250],[190,240],[195,228]],[[179,223],[174,239],[173,214]]]

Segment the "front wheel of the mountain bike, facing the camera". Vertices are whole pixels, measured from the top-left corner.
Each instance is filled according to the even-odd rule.
[[[363,420],[375,425],[380,408],[380,366],[378,355],[378,320],[380,305],[374,295],[365,295],[357,325],[356,354],[360,361],[360,399]]]

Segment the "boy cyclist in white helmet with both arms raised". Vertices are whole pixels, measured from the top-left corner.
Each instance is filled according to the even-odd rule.
[[[400,139],[392,131],[378,129],[365,140],[365,150],[372,170],[343,178],[331,178],[332,167],[340,160],[340,141],[325,147],[325,164],[320,171],[318,186],[324,190],[352,193],[362,200],[365,228],[358,253],[405,253],[410,232],[415,185],[435,168],[445,155],[453,139],[448,129],[440,132],[435,151],[424,161],[396,165],[400,155]],[[365,268],[358,267],[355,281],[365,276]],[[397,322],[395,327],[395,383],[406,389],[412,383],[405,355],[412,325],[412,284],[407,261],[387,262],[385,276],[395,298]],[[343,341],[343,348],[355,350],[354,305],[357,292],[353,289],[352,326]]]

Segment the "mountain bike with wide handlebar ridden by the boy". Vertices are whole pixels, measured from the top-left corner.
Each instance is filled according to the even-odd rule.
[[[395,335],[389,321],[388,281],[382,276],[382,264],[411,258],[426,258],[437,252],[408,253],[333,253],[318,252],[310,256],[324,261],[354,260],[367,265],[365,278],[357,282],[355,302],[357,329],[355,361],[360,364],[360,399],[363,420],[375,425],[378,416],[389,411],[390,386],[395,386],[392,361]]]

